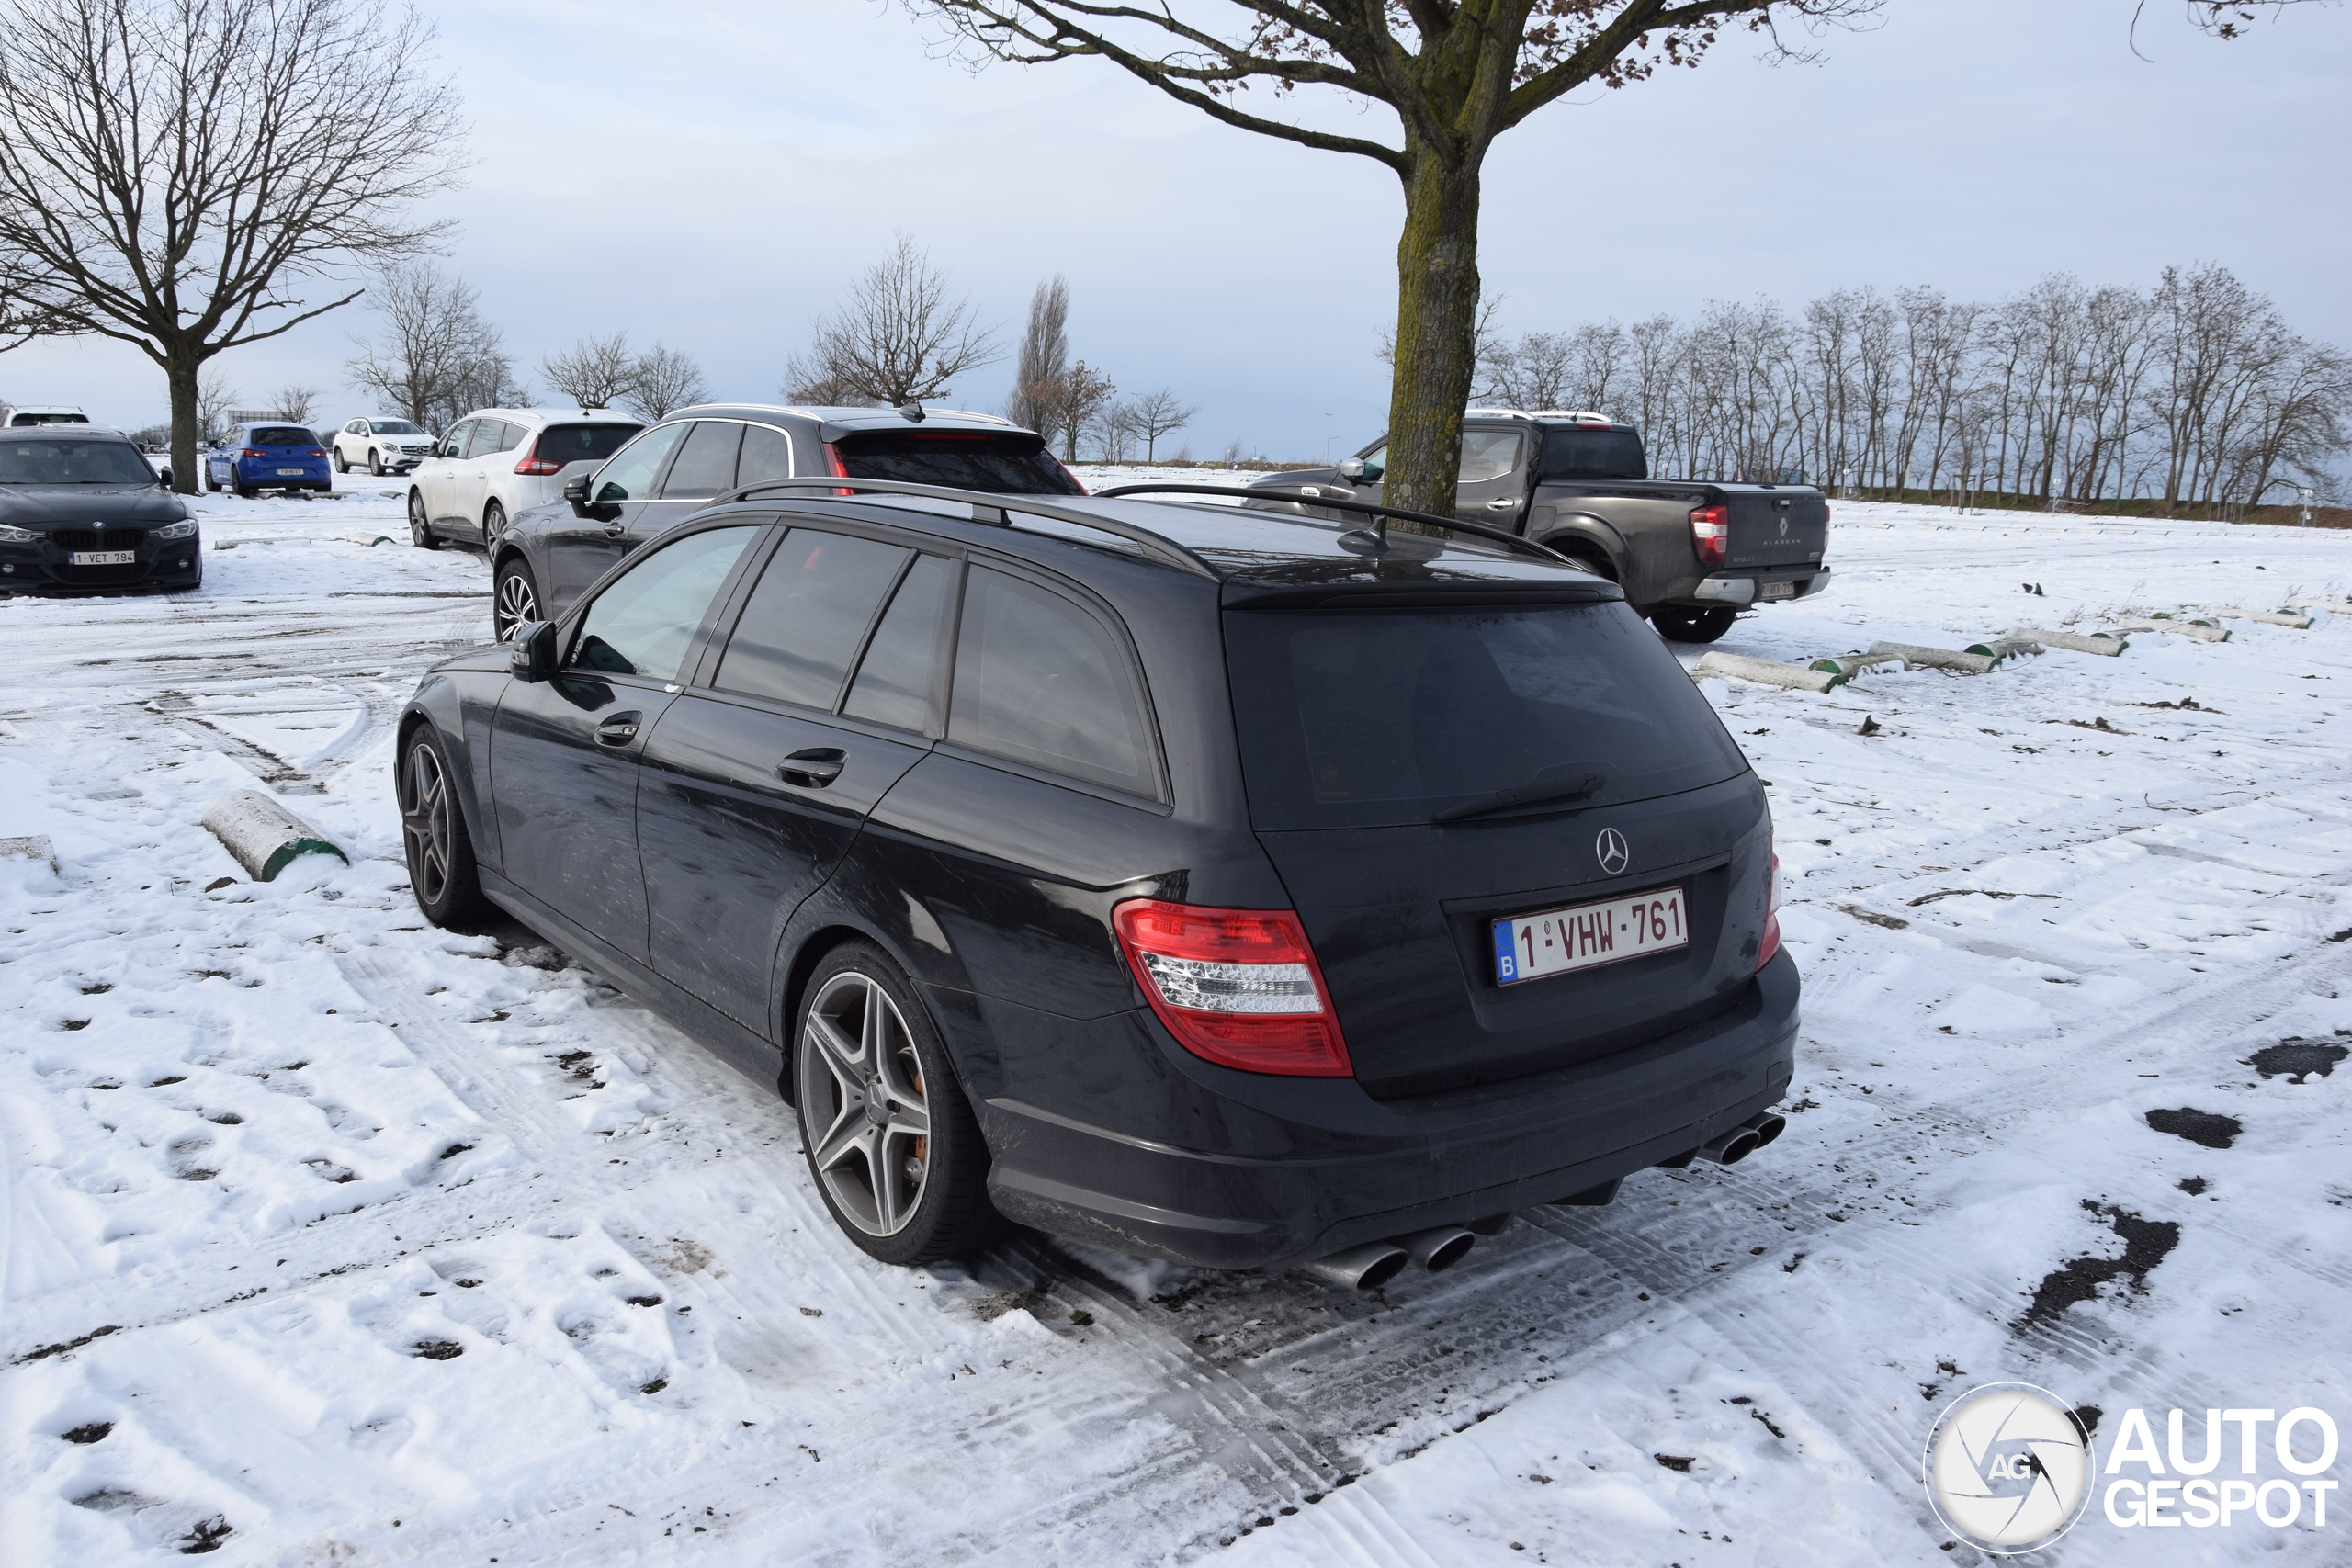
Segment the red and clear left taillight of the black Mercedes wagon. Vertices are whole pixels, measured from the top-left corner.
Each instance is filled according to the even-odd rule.
[[[1192,1056],[1242,1072],[1352,1077],[1296,912],[1129,898],[1110,922],[1152,1013]]]

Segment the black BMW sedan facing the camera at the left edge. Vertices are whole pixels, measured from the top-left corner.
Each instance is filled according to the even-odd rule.
[[[195,588],[202,545],[127,435],[0,430],[0,590]]]

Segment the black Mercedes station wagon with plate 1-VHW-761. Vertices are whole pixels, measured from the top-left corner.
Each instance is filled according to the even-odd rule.
[[[1357,510],[720,496],[423,679],[416,898],[779,1084],[889,1262],[1011,1220],[1369,1286],[1769,1143],[1738,745],[1613,583]]]

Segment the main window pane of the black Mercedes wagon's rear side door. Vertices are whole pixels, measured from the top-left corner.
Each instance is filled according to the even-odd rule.
[[[713,684],[833,712],[866,625],[908,555],[873,538],[793,529],[743,604]]]

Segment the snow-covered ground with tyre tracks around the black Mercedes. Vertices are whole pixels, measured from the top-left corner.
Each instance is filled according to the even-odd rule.
[[[348,484],[202,498],[198,595],[0,602],[0,835],[59,856],[0,860],[9,1563],[1952,1563],[1919,1446],[1966,1387],[2352,1427],[2352,623],[1705,682],[1806,980],[1743,1166],[1381,1295],[903,1272],[771,1091],[416,917],[388,722],[489,583]],[[2352,595],[2293,529],[1842,503],[1832,562],[1717,646]],[[256,778],[350,865],[249,884],[198,816]],[[2343,1563],[2345,1512],[2093,1505],[2037,1561]]]

